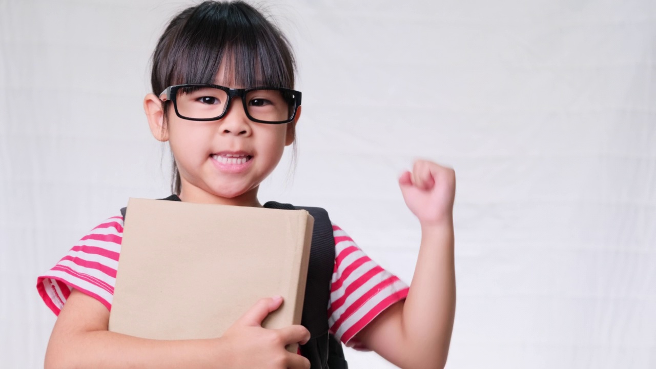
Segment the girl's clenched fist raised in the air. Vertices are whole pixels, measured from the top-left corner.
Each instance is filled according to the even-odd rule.
[[[422,227],[443,225],[453,221],[455,171],[427,160],[417,160],[412,173],[399,178],[405,204]]]

